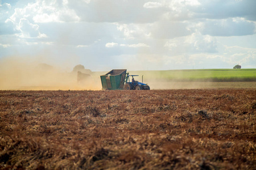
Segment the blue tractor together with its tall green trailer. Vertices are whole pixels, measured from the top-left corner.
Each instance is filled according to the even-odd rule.
[[[134,76],[138,75],[129,75],[126,71],[125,69],[117,69],[101,75],[102,90],[150,90],[150,87],[143,83],[143,75],[141,83],[134,80]]]

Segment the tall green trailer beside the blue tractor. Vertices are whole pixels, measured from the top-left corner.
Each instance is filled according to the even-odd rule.
[[[122,90],[125,85],[126,70],[111,70],[105,75],[101,75],[102,90]]]

